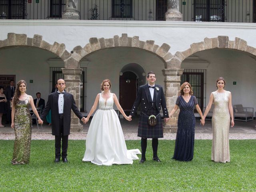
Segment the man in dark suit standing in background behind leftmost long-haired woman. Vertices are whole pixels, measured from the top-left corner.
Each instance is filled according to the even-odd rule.
[[[12,98],[14,96],[14,92],[15,92],[16,87],[14,86],[14,80],[10,80],[10,86],[7,86],[5,89],[5,96],[7,99],[7,114],[6,114],[6,124],[8,124],[9,122],[12,121],[12,110],[10,108],[10,104],[12,102]]]

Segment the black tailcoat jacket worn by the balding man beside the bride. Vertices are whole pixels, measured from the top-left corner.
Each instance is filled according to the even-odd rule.
[[[64,108],[63,108],[63,135],[70,134],[71,109],[79,119],[83,118],[82,113],[78,110],[74,96],[68,92],[64,92]],[[58,136],[60,134],[59,109],[58,109],[58,92],[48,95],[47,104],[42,112],[41,119],[46,120],[46,116],[51,110],[52,113],[52,134]]]

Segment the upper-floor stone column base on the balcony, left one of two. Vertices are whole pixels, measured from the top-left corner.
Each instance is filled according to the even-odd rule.
[[[66,10],[62,12],[62,19],[80,19],[77,6],[78,0],[66,0]]]

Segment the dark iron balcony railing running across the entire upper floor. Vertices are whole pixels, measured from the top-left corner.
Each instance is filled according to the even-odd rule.
[[[164,20],[168,0],[78,0],[81,20]],[[66,0],[0,0],[0,19],[62,19]],[[256,0],[180,0],[183,21],[256,22]]]

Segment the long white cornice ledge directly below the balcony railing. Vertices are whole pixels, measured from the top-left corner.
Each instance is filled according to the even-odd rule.
[[[120,21],[120,20],[0,20],[0,25],[58,25],[58,26],[133,26],[133,27],[196,27],[196,28],[252,28],[255,23],[179,22],[179,21]]]

